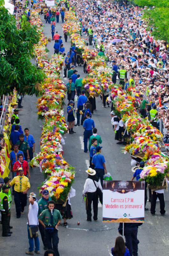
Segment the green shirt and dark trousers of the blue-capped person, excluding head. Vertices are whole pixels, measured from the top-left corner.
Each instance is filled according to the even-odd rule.
[[[52,200],[50,196],[47,200],[44,197],[39,199],[39,201],[38,201],[38,207],[39,207],[38,218],[40,216],[40,213],[43,212],[43,210],[46,210],[48,208],[48,201],[50,201],[50,200]],[[48,248],[48,244],[47,244],[47,241],[45,238],[45,230],[41,223],[39,223],[39,231],[40,231],[40,235],[41,235],[44,247]]]

